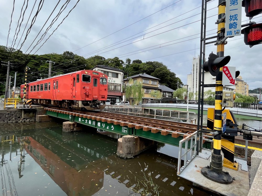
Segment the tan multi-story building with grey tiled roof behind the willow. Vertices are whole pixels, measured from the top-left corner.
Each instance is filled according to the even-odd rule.
[[[151,96],[151,92],[156,92],[156,91],[161,91],[161,89],[159,88],[159,78],[150,76],[146,73],[142,73],[142,74],[137,74],[134,76],[130,76],[127,77],[126,79],[123,80],[124,85],[132,85],[129,84],[129,78],[133,79],[133,83],[137,83],[140,82],[142,83],[142,90],[144,91],[144,97],[143,100],[149,100],[149,99],[155,99],[155,97]],[[132,97],[131,100],[129,100],[129,102],[132,101]]]

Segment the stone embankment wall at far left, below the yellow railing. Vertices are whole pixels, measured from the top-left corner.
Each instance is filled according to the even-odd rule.
[[[23,113],[24,112],[24,113]],[[44,108],[0,110],[0,123],[23,123],[35,121],[35,115],[45,114]]]

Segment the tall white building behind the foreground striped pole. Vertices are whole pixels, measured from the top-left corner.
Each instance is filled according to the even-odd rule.
[[[193,92],[194,96],[196,92],[198,92],[199,87],[199,55],[197,58],[193,58],[192,62],[192,70],[191,73],[187,75],[187,84],[188,84],[188,92]],[[212,76],[209,72],[204,73],[204,84],[215,84],[216,77]],[[223,90],[233,91],[235,86],[223,87]],[[215,87],[205,87],[204,91],[212,90],[215,92]],[[194,97],[194,99],[198,99],[198,97]]]

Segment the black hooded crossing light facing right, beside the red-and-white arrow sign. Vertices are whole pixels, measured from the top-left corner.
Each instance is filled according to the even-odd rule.
[[[208,61],[204,62],[203,69],[206,72],[210,72],[212,76],[217,76],[220,71],[220,68],[228,64],[230,61],[230,56],[218,57],[214,53],[210,53]]]

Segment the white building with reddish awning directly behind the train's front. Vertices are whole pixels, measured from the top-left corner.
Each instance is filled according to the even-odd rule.
[[[108,76],[108,94],[107,99],[110,100],[111,104],[115,104],[118,101],[122,100],[122,80],[124,78],[123,70],[118,68],[106,66],[106,65],[97,65],[91,70],[99,71]]]

